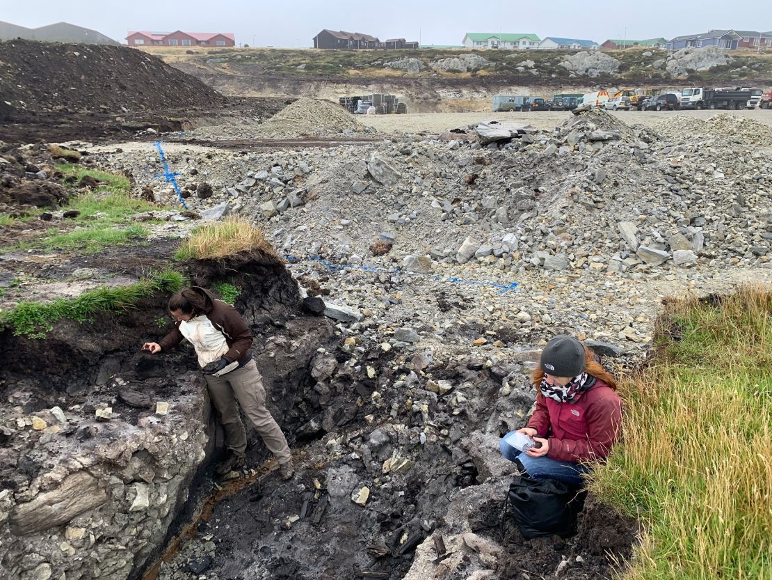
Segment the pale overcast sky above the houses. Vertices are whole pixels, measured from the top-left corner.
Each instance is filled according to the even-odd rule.
[[[533,32],[602,43],[670,39],[708,29],[769,31],[770,5],[770,0],[0,0],[0,20],[29,27],[71,22],[122,43],[127,30],[181,29],[232,32],[237,44],[303,47],[313,46],[313,36],[324,28],[422,44],[460,44],[465,32]]]

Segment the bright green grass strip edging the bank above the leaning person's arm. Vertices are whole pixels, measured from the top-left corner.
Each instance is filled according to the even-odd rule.
[[[97,288],[75,299],[53,302],[19,302],[14,309],[0,312],[0,323],[10,326],[15,336],[45,338],[61,319],[86,322],[97,312],[125,312],[141,299],[156,292],[177,292],[185,285],[185,276],[174,270],[151,272],[136,284]]]

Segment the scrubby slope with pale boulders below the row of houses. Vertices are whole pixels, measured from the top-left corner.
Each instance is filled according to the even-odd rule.
[[[619,84],[647,84],[678,78],[715,84],[752,82],[772,84],[772,51],[755,53],[733,51],[730,62],[709,70],[689,69],[673,75],[666,69],[668,51],[633,48],[602,51],[602,55],[617,60],[618,70],[584,73],[564,64],[576,51],[555,50],[492,50],[492,49],[415,49],[415,50],[317,50],[317,49],[147,49],[166,62],[187,72],[201,75],[230,74],[235,77],[269,75],[313,80],[334,77],[344,82],[381,80],[400,83],[400,79],[432,78],[451,82],[486,77],[498,84],[587,84],[587,80]],[[472,55],[471,58],[464,55]],[[459,67],[458,61],[436,65],[445,59],[469,59],[469,66]],[[406,60],[410,60],[409,64]],[[570,59],[569,59],[570,60]],[[484,62],[483,62],[484,61]],[[523,65],[523,63],[526,63]],[[611,61],[608,61],[611,62]],[[395,64],[396,63],[396,64]],[[402,64],[400,64],[402,63]],[[433,64],[434,63],[434,64]],[[466,63],[462,63],[466,64]],[[401,68],[405,67],[405,68]],[[601,67],[602,68],[602,67]],[[613,65],[612,67],[613,68]],[[700,67],[702,68],[702,67]],[[408,69],[408,70],[405,70]]]

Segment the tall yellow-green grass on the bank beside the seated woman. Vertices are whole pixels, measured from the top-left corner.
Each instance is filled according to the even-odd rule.
[[[672,305],[591,488],[640,517],[628,580],[772,578],[772,293]]]

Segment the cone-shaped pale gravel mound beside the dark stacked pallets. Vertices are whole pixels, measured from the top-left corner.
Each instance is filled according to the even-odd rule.
[[[363,131],[364,125],[340,105],[302,98],[273,115],[260,132],[266,137],[295,137]]]

